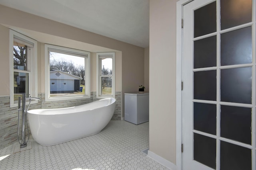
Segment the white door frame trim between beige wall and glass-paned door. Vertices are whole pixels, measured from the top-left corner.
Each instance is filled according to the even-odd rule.
[[[182,170],[182,42],[183,6],[193,0],[179,0],[176,3],[176,170]]]

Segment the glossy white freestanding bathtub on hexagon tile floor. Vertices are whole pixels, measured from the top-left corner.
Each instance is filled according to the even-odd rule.
[[[29,110],[31,134],[43,146],[94,135],[109,123],[115,106],[116,99],[106,98],[81,106]]]

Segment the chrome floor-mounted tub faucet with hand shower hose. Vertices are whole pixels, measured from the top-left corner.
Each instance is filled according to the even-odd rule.
[[[28,108],[26,109],[26,100],[29,100],[28,108],[30,106],[31,100],[41,100],[40,98],[35,98],[35,97],[28,97],[26,98],[26,94],[22,94],[22,107],[20,107],[21,103],[21,98],[18,98],[18,133],[17,133],[17,139],[18,142],[20,143],[20,148],[24,148],[27,146],[26,141],[26,128],[28,130],[28,120],[27,120],[27,111]],[[20,110],[22,110],[22,139],[21,142],[19,140],[19,132],[20,132]],[[29,139],[29,131],[28,131],[28,139]]]

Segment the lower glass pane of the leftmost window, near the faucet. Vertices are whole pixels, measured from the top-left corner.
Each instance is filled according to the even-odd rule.
[[[14,72],[14,101],[24,93],[28,94],[28,73]]]

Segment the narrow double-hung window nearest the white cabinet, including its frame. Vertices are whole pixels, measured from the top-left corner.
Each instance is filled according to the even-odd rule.
[[[115,53],[97,53],[97,98],[115,97]]]

